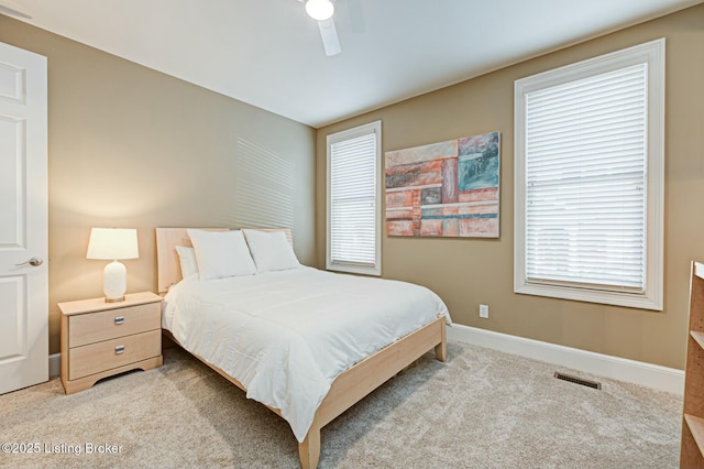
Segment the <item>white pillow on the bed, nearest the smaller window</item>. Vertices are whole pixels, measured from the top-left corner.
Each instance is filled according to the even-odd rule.
[[[257,272],[283,271],[300,266],[283,231],[242,230]]]

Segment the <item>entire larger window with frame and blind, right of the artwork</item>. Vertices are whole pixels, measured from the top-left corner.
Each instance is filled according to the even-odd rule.
[[[664,40],[515,84],[517,293],[662,309]]]

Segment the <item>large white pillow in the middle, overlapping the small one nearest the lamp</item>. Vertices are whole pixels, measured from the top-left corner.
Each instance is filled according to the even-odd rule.
[[[188,230],[196,251],[200,280],[253,275],[256,265],[246,248],[242,231]]]

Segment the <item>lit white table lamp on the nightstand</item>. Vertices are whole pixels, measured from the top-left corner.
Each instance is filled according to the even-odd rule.
[[[122,302],[127,292],[128,270],[119,262],[121,259],[138,259],[136,229],[134,228],[94,228],[90,230],[87,259],[112,261],[106,265],[102,276],[102,290],[106,302]]]

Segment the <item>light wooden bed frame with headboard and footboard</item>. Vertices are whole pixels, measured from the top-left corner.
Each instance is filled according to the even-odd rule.
[[[158,268],[158,292],[165,294],[168,287],[178,282],[180,265],[176,253],[176,246],[191,246],[187,228],[156,228],[156,254]],[[217,229],[226,230],[226,229]],[[262,230],[284,231],[292,242],[290,230]],[[393,378],[399,371],[411,364],[428,350],[435,348],[436,358],[446,361],[447,339],[446,320],[439,316],[432,323],[420,327],[408,336],[383,348],[376,353],[360,361],[340,374],[330,386],[328,395],[316,411],[314,422],[302,443],[298,444],[300,466],[304,469],[318,467],[320,458],[320,428],[332,422],[336,417],[361,401],[369,393]],[[164,334],[178,343],[170,332],[164,329]],[[180,346],[180,343],[178,343]],[[194,355],[194,353],[191,353]],[[204,358],[194,355],[205,364],[224,377],[228,381],[246,392],[246,389],[238,380],[208,363]],[[268,407],[280,416],[277,408]]]

